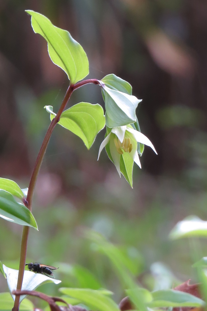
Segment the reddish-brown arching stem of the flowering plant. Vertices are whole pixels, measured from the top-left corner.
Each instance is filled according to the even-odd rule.
[[[35,166],[33,168],[32,174],[31,174],[30,184],[28,187],[28,193],[27,193],[25,205],[30,211],[32,211],[32,198],[33,198],[33,194],[34,194],[34,190],[35,190],[35,184],[37,181],[37,176],[39,174],[40,167],[41,167],[41,164],[42,164],[42,161],[43,161],[43,158],[45,155],[45,151],[47,149],[47,145],[48,145],[49,139],[51,137],[51,134],[52,134],[56,124],[59,122],[60,116],[61,116],[63,110],[65,109],[65,106],[66,106],[71,94],[73,93],[73,91],[78,89],[79,87],[81,87],[83,85],[88,84],[88,83],[94,83],[94,84],[100,85],[100,81],[98,81],[96,79],[87,79],[84,81],[77,82],[75,85],[70,84],[70,86],[68,87],[68,90],[65,94],[64,100],[60,106],[60,109],[58,110],[58,113],[56,114],[55,118],[52,119],[52,121],[49,125],[49,128],[45,134],[45,138],[44,138],[42,145],[40,147],[40,151],[38,153],[38,156],[37,156],[37,159],[35,162]],[[24,277],[28,236],[29,236],[29,227],[24,226],[23,232],[22,232],[22,238],[21,238],[19,274],[18,274],[17,287],[16,287],[17,290],[21,290],[22,281],[23,281],[23,277]],[[14,307],[12,308],[12,311],[18,311],[19,310],[19,300],[20,300],[20,296],[16,296],[15,302],[14,302]]]

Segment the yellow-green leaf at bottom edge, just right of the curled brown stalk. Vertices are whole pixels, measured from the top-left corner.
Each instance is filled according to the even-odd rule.
[[[120,311],[119,306],[99,290],[66,287],[60,288],[59,290],[65,295],[80,300],[89,308],[100,311]]]

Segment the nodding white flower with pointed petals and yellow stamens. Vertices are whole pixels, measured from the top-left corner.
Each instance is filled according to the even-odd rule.
[[[109,143],[111,157],[119,173],[119,176],[121,177],[120,156],[124,152],[129,152],[130,157],[141,168],[141,163],[137,152],[137,142],[150,146],[153,149],[153,151],[157,154],[153,144],[144,134],[134,130],[130,125],[124,125],[111,129],[111,132],[106,136],[106,138],[101,143],[98,153],[98,159],[103,148]]]

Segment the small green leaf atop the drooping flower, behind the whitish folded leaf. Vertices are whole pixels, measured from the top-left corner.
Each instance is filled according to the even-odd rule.
[[[129,82],[117,77],[115,74],[111,73],[101,79],[106,86],[111,90],[120,91],[129,95],[132,95],[132,87]]]

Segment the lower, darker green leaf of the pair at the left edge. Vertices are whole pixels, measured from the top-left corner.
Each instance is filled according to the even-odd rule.
[[[16,202],[11,193],[0,190],[0,217],[23,226],[38,230],[37,223],[31,211],[23,204]]]

